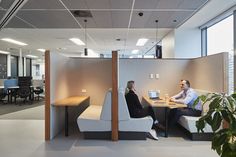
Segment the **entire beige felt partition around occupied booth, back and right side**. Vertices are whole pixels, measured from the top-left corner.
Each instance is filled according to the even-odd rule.
[[[161,97],[172,96],[180,91],[181,79],[189,80],[193,88],[227,91],[227,55],[196,59],[120,59],[119,84],[125,88],[128,80],[134,80],[140,98],[147,96],[148,90],[160,90]]]

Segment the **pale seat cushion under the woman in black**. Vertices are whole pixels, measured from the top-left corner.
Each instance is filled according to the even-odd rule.
[[[152,128],[152,123],[153,120],[150,116],[119,120],[119,131],[149,132]]]

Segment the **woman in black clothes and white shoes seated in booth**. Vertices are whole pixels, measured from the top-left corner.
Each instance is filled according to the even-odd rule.
[[[135,88],[134,88],[134,81],[128,81],[127,87],[126,87],[126,93],[125,93],[125,99],[128,105],[129,114],[132,118],[142,118],[146,116],[151,116],[153,119],[153,129],[157,128],[163,128],[160,124],[158,124],[157,118],[155,116],[155,113],[151,106],[148,106],[144,108],[139,99],[138,96],[135,94]],[[156,136],[156,132],[153,133],[154,130],[151,130],[149,133],[152,135],[154,139],[158,139]]]

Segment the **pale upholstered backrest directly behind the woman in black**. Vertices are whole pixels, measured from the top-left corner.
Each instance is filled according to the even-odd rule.
[[[125,93],[119,90],[118,93],[118,115],[119,120],[130,120],[129,109],[125,100]]]

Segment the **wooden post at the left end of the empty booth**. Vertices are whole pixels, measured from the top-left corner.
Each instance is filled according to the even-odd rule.
[[[50,51],[45,51],[45,140],[50,140]]]

